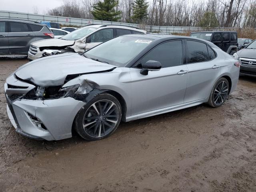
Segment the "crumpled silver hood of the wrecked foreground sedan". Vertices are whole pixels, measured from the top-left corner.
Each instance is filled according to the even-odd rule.
[[[94,61],[78,53],[66,53],[40,58],[24,64],[15,74],[38,86],[59,86],[64,84],[67,75],[101,72],[116,66]]]

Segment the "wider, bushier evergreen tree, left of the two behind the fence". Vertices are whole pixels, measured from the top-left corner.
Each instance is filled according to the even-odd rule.
[[[116,11],[115,7],[118,6],[118,0],[100,0],[94,4],[92,15],[96,20],[104,21],[118,21],[122,12]]]

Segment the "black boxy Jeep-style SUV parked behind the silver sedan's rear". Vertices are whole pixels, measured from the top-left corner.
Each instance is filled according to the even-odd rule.
[[[192,32],[190,36],[210,41],[230,55],[238,51],[237,33],[235,31]]]

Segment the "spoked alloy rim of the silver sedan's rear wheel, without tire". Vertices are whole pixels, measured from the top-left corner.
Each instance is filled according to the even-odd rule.
[[[218,84],[214,91],[214,104],[221,105],[228,96],[228,84],[222,81]]]

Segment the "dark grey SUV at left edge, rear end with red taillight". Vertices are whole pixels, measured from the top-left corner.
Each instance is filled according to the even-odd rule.
[[[50,38],[52,31],[39,22],[0,19],[0,56],[28,55],[30,43]]]

